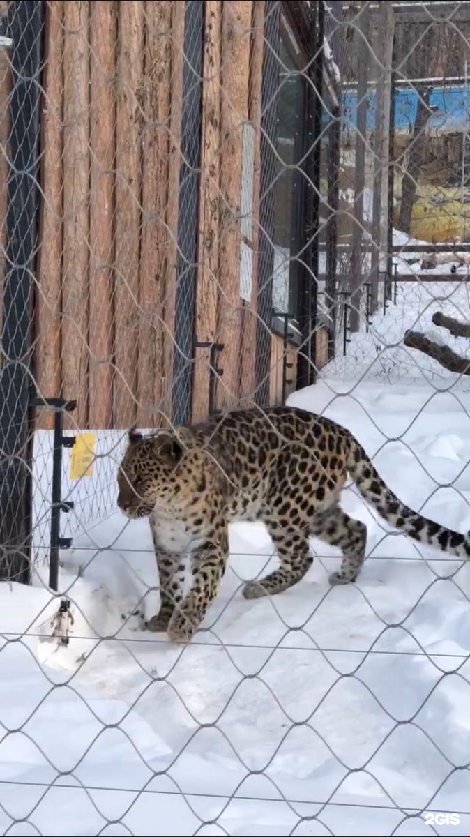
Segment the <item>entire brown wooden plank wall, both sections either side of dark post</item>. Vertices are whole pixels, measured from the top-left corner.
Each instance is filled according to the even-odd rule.
[[[70,422],[82,428],[171,418],[184,10],[171,0],[46,3],[36,374],[44,396],[78,399]],[[206,0],[204,26],[195,330],[225,345],[223,408],[255,388],[263,0]],[[251,300],[240,295],[242,244]],[[281,361],[276,348],[276,380]],[[201,350],[194,419],[207,415],[208,389]],[[38,419],[48,426],[46,411]]]

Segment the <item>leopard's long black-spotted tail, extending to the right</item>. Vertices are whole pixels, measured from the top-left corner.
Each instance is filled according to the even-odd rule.
[[[470,532],[461,535],[460,532],[446,529],[445,526],[427,520],[426,517],[412,511],[382,480],[365,450],[352,435],[349,446],[346,467],[360,490],[360,494],[371,506],[375,507],[384,520],[396,529],[405,531],[414,541],[425,543],[459,558],[470,557]]]

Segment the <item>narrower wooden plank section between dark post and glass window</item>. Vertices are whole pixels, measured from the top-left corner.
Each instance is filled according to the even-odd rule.
[[[263,0],[207,0],[202,112],[197,339],[224,345],[216,407],[253,397],[257,321]],[[253,127],[252,237],[242,237],[243,126]],[[251,300],[240,295],[241,246],[253,259]],[[207,415],[209,352],[197,352],[193,416]]]

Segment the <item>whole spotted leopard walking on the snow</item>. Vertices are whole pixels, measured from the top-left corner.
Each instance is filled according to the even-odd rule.
[[[469,532],[451,531],[402,503],[350,430],[319,414],[251,407],[176,429],[130,429],[117,505],[128,518],[150,523],[160,609],[146,628],[176,643],[192,639],[217,596],[228,526],[237,521],[262,522],[278,557],[276,569],[244,583],[244,598],[273,596],[304,578],[314,560],[312,537],[342,554],[330,584],[355,583],[367,527],[340,506],[348,480],[382,519],[415,542],[470,557]]]

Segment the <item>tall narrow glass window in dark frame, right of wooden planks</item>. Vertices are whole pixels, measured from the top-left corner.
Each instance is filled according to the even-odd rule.
[[[299,315],[298,260],[302,249],[302,187],[299,168],[304,151],[304,77],[284,39],[279,44],[277,113],[278,179],[274,187],[273,308]],[[302,259],[302,254],[300,254]]]

